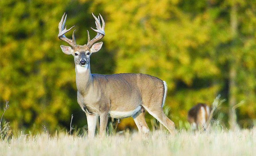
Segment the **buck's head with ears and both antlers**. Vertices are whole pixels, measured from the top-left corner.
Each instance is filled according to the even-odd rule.
[[[72,54],[74,56],[75,65],[79,65],[81,67],[88,67],[88,64],[90,63],[91,53],[99,51],[103,44],[103,42],[98,42],[98,43],[95,43],[95,42],[104,37],[105,22],[104,22],[102,16],[99,15],[101,18],[101,21],[102,21],[102,27],[101,27],[99,16],[98,16],[98,18],[96,18],[92,14],[92,16],[95,19],[96,30],[92,29],[92,28],[91,29],[94,30],[95,32],[97,32],[97,35],[93,39],[90,39],[89,31],[87,30],[87,33],[88,33],[87,44],[78,45],[75,42],[75,36],[74,36],[75,30],[73,31],[72,39],[68,39],[64,35],[66,32],[70,31],[74,27],[73,26],[68,30],[66,29],[66,26],[65,26],[66,16],[65,16],[65,18],[64,18],[64,16],[65,16],[65,13],[62,16],[61,22],[59,23],[58,38],[67,42],[70,46],[61,45],[61,49],[65,54],[68,54],[68,55]],[[65,26],[65,28],[64,28],[64,26]]]

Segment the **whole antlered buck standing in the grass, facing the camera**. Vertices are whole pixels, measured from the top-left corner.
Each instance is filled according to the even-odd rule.
[[[105,35],[105,23],[101,15],[95,19],[97,35],[90,39],[88,33],[87,44],[76,44],[74,32],[72,39],[65,37],[65,13],[59,23],[58,38],[70,46],[61,45],[65,54],[72,54],[75,62],[77,102],[85,112],[88,124],[88,136],[94,137],[95,125],[100,117],[99,135],[104,136],[108,117],[133,117],[140,133],[148,133],[145,121],[145,110],[159,120],[169,132],[175,130],[174,122],[163,112],[163,105],[167,94],[165,81],[146,74],[122,73],[113,75],[91,74],[90,55],[100,50],[103,42],[97,42]],[[100,24],[102,21],[102,27]],[[65,26],[65,27],[64,27]]]

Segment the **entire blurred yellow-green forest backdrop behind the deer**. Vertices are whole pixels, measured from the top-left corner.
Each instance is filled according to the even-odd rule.
[[[64,12],[78,44],[87,42],[86,30],[96,35],[91,13],[103,16],[103,47],[91,56],[91,72],[145,73],[166,81],[164,109],[177,128],[193,105],[211,105],[219,94],[226,99],[217,114],[222,125],[232,126],[231,108],[242,100],[238,124],[256,124],[254,0],[2,0],[0,114],[6,99],[3,120],[13,130],[69,129],[71,115],[72,125],[87,124],[76,101],[73,57],[61,51],[66,43],[57,37]]]

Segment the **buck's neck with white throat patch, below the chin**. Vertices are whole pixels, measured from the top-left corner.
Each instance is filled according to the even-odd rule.
[[[75,66],[76,73],[76,88],[79,93],[87,94],[88,90],[93,85],[93,78],[91,75],[90,64],[82,67],[80,65]]]

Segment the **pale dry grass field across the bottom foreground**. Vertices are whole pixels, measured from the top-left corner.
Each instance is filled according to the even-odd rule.
[[[0,155],[5,156],[158,156],[158,155],[256,155],[256,127],[252,129],[203,131],[193,133],[180,130],[171,135],[155,130],[148,136],[138,133],[114,134],[105,138],[88,139],[86,136],[64,132],[49,136],[19,134],[0,141]]]

